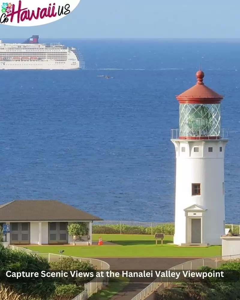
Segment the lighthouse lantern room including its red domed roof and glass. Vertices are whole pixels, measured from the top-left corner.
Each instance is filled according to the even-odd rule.
[[[220,139],[221,100],[203,83],[204,73],[196,72],[196,84],[176,96],[179,101],[179,139],[212,140]]]

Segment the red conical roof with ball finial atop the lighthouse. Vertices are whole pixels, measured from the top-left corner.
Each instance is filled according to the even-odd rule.
[[[211,88],[208,88],[203,83],[203,77],[204,73],[202,72],[202,70],[196,72],[196,84],[189,88],[187,91],[184,91],[182,94],[176,96],[180,104],[220,103],[220,101],[223,99],[223,96],[217,94]]]

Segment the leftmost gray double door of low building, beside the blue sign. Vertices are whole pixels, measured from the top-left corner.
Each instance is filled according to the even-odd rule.
[[[10,243],[30,244],[30,223],[10,223]]]

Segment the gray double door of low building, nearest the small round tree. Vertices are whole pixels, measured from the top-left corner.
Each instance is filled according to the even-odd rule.
[[[67,244],[67,222],[49,222],[49,244]]]

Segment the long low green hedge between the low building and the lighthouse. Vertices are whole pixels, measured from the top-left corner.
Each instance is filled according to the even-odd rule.
[[[122,231],[121,231],[122,227]],[[114,224],[114,225],[93,225],[92,233],[96,234],[155,234],[164,233],[166,235],[174,234],[174,224],[173,223],[163,223],[161,225],[153,227],[136,226],[136,225],[126,225],[126,224]]]

